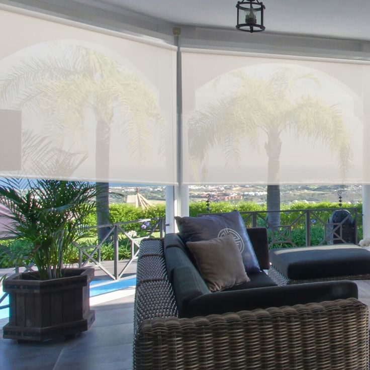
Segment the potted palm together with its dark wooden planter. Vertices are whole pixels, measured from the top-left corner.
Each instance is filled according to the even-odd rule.
[[[9,210],[7,236],[30,246],[37,271],[3,281],[10,295],[4,338],[45,340],[87,330],[95,320],[88,284],[93,268],[63,268],[63,256],[84,235],[84,219],[95,210],[96,188],[84,181],[7,179],[0,203]]]

